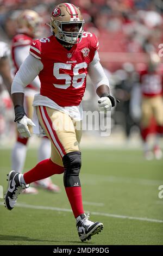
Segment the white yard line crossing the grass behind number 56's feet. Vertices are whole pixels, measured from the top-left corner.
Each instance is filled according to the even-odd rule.
[[[0,205],[4,206],[4,204],[2,202],[0,202]],[[52,210],[52,211],[72,212],[71,209],[57,208],[57,207],[50,207],[50,206],[40,206],[40,205],[18,204],[18,203],[16,204],[16,207],[37,209],[37,210]],[[89,212],[89,211],[86,211],[86,212]],[[131,217],[131,216],[108,214],[108,213],[104,213],[104,212],[93,212],[93,211],[90,212],[90,214],[104,216],[104,217],[112,217],[112,218],[126,218],[128,220],[163,223],[163,220],[155,220],[153,218]]]

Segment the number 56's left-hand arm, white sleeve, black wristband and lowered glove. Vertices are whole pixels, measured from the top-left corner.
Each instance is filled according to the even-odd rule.
[[[34,80],[42,69],[42,62],[29,54],[12,82],[11,94],[15,110],[14,121],[17,122],[17,130],[23,137],[31,136],[28,125],[34,125],[32,120],[27,118],[24,111],[24,88]]]

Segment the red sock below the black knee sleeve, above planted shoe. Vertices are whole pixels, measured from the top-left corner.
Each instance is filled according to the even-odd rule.
[[[77,218],[80,214],[84,214],[82,202],[82,188],[81,187],[65,187],[68,200],[74,217]]]

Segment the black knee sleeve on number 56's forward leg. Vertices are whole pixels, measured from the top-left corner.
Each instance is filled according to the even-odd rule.
[[[80,187],[79,173],[82,166],[81,152],[73,151],[62,158],[65,187]]]

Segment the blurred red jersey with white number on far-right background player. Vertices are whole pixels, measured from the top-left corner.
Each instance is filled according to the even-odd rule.
[[[149,73],[148,70],[140,72],[142,95],[154,97],[162,94],[163,80],[158,72]]]

